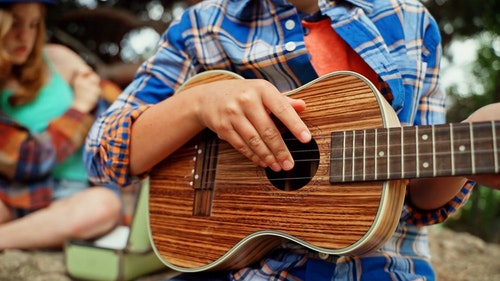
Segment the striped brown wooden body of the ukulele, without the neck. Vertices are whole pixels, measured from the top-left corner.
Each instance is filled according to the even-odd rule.
[[[184,87],[223,79],[242,78],[209,71]],[[393,233],[404,180],[330,182],[331,133],[399,127],[390,105],[352,72],[332,73],[285,94],[306,101],[300,116],[314,139],[298,145],[297,156],[306,162],[297,164],[298,171],[268,173],[209,132],[153,169],[150,233],[168,267],[182,272],[240,268],[284,241],[330,255],[360,255]]]

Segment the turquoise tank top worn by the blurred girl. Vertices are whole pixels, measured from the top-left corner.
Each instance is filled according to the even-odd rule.
[[[32,133],[45,131],[51,120],[61,116],[73,104],[73,89],[49,63],[51,78],[42,87],[36,99],[21,106],[11,106],[8,102],[13,94],[3,90],[0,94],[0,109],[25,126]],[[83,164],[82,147],[58,164],[52,175],[56,179],[86,181],[87,173]]]

